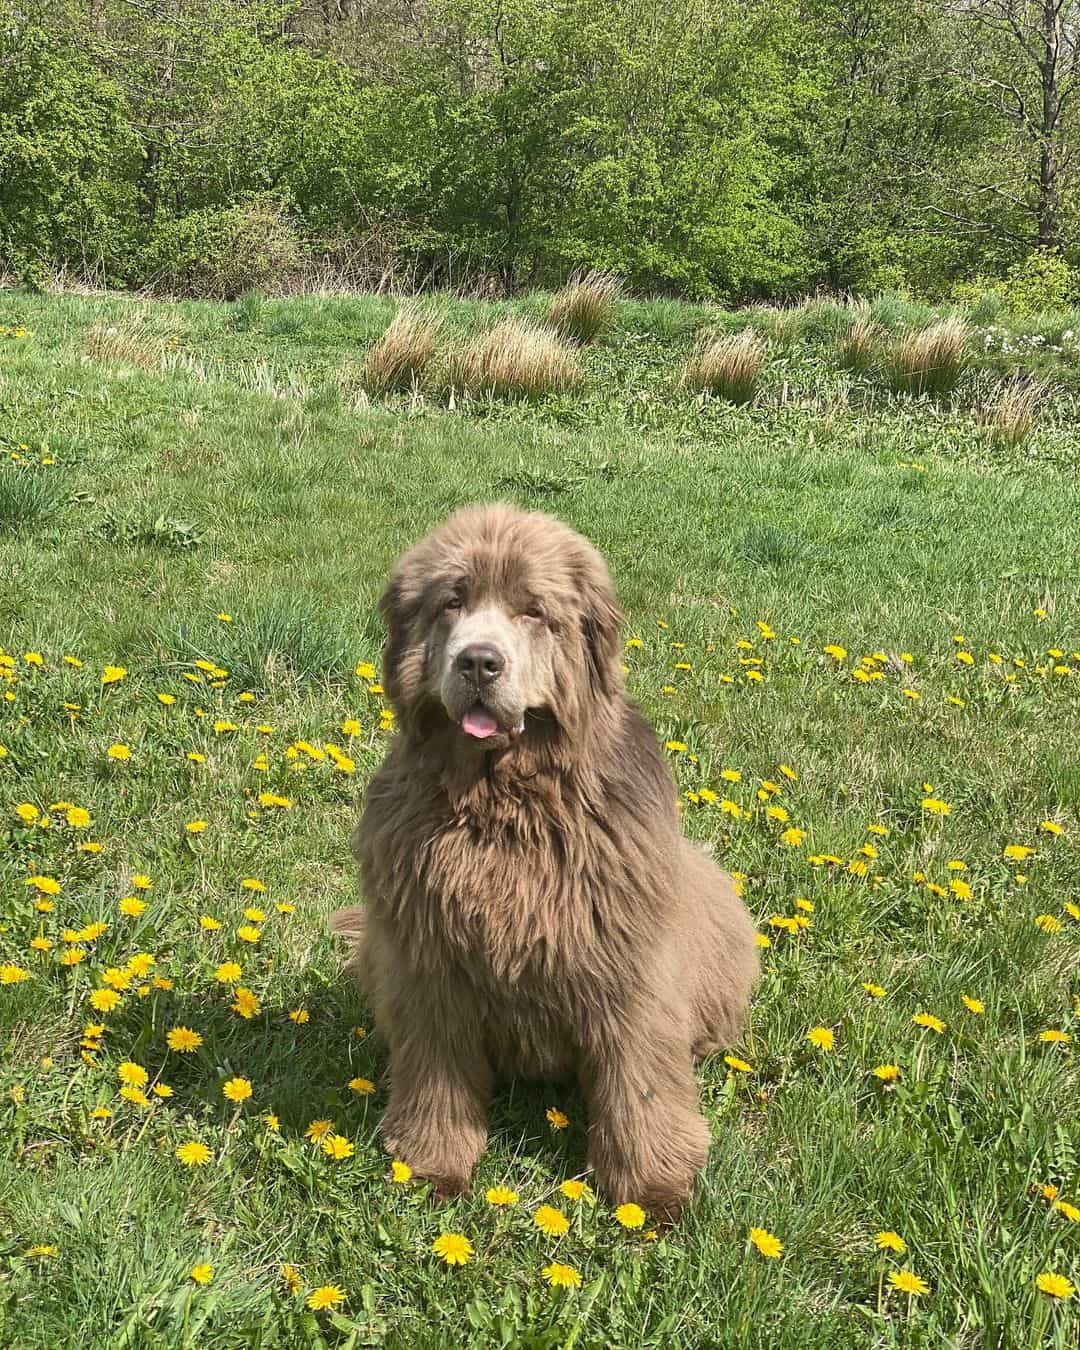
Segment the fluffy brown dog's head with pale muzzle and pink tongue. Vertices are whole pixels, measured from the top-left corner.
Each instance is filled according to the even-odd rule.
[[[532,714],[572,737],[621,687],[608,568],[549,516],[458,512],[398,560],[379,609],[386,693],[421,733],[450,721],[502,749]]]

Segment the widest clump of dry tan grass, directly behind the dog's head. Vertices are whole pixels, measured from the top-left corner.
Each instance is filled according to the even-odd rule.
[[[537,398],[576,389],[578,359],[559,335],[524,319],[502,319],[451,362],[451,386],[495,398]]]

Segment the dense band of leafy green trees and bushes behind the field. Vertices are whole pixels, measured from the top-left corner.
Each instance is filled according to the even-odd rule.
[[[1076,290],[1080,155],[1073,113],[1033,120],[1019,11],[1018,49],[983,0],[0,0],[0,266],[724,301],[1014,269],[1034,310]]]

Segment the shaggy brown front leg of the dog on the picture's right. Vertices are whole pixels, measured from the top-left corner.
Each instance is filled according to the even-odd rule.
[[[579,1072],[589,1162],[616,1204],[634,1202],[674,1222],[709,1152],[688,1034],[656,1006],[599,1021]]]

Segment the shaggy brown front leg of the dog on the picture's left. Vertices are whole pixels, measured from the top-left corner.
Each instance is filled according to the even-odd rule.
[[[412,999],[393,1019],[390,1102],[381,1133],[393,1157],[448,1197],[467,1193],[487,1142],[491,1071],[478,1019],[431,992]]]

